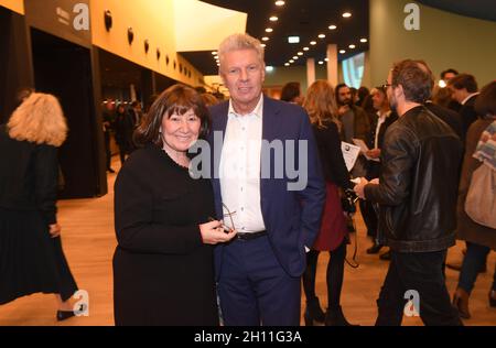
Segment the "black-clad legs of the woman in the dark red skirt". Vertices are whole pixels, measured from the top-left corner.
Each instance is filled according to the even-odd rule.
[[[315,275],[320,251],[311,250],[306,253],[306,270],[303,273],[303,290],[306,301],[312,301],[315,295]],[[346,241],[334,251],[330,252],[331,259],[327,263],[327,304],[328,308],[337,309],[341,304],[341,291],[344,280],[344,262],[346,258]]]

